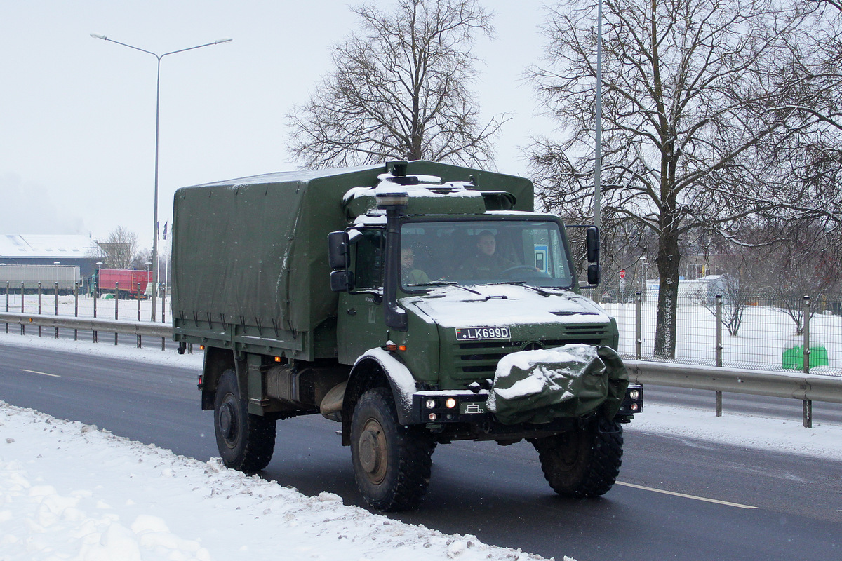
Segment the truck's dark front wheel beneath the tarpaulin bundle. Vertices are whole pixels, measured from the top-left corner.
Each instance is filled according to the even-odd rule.
[[[531,442],[541,459],[544,477],[559,495],[605,495],[620,474],[623,427],[617,421],[591,422],[578,431]]]

